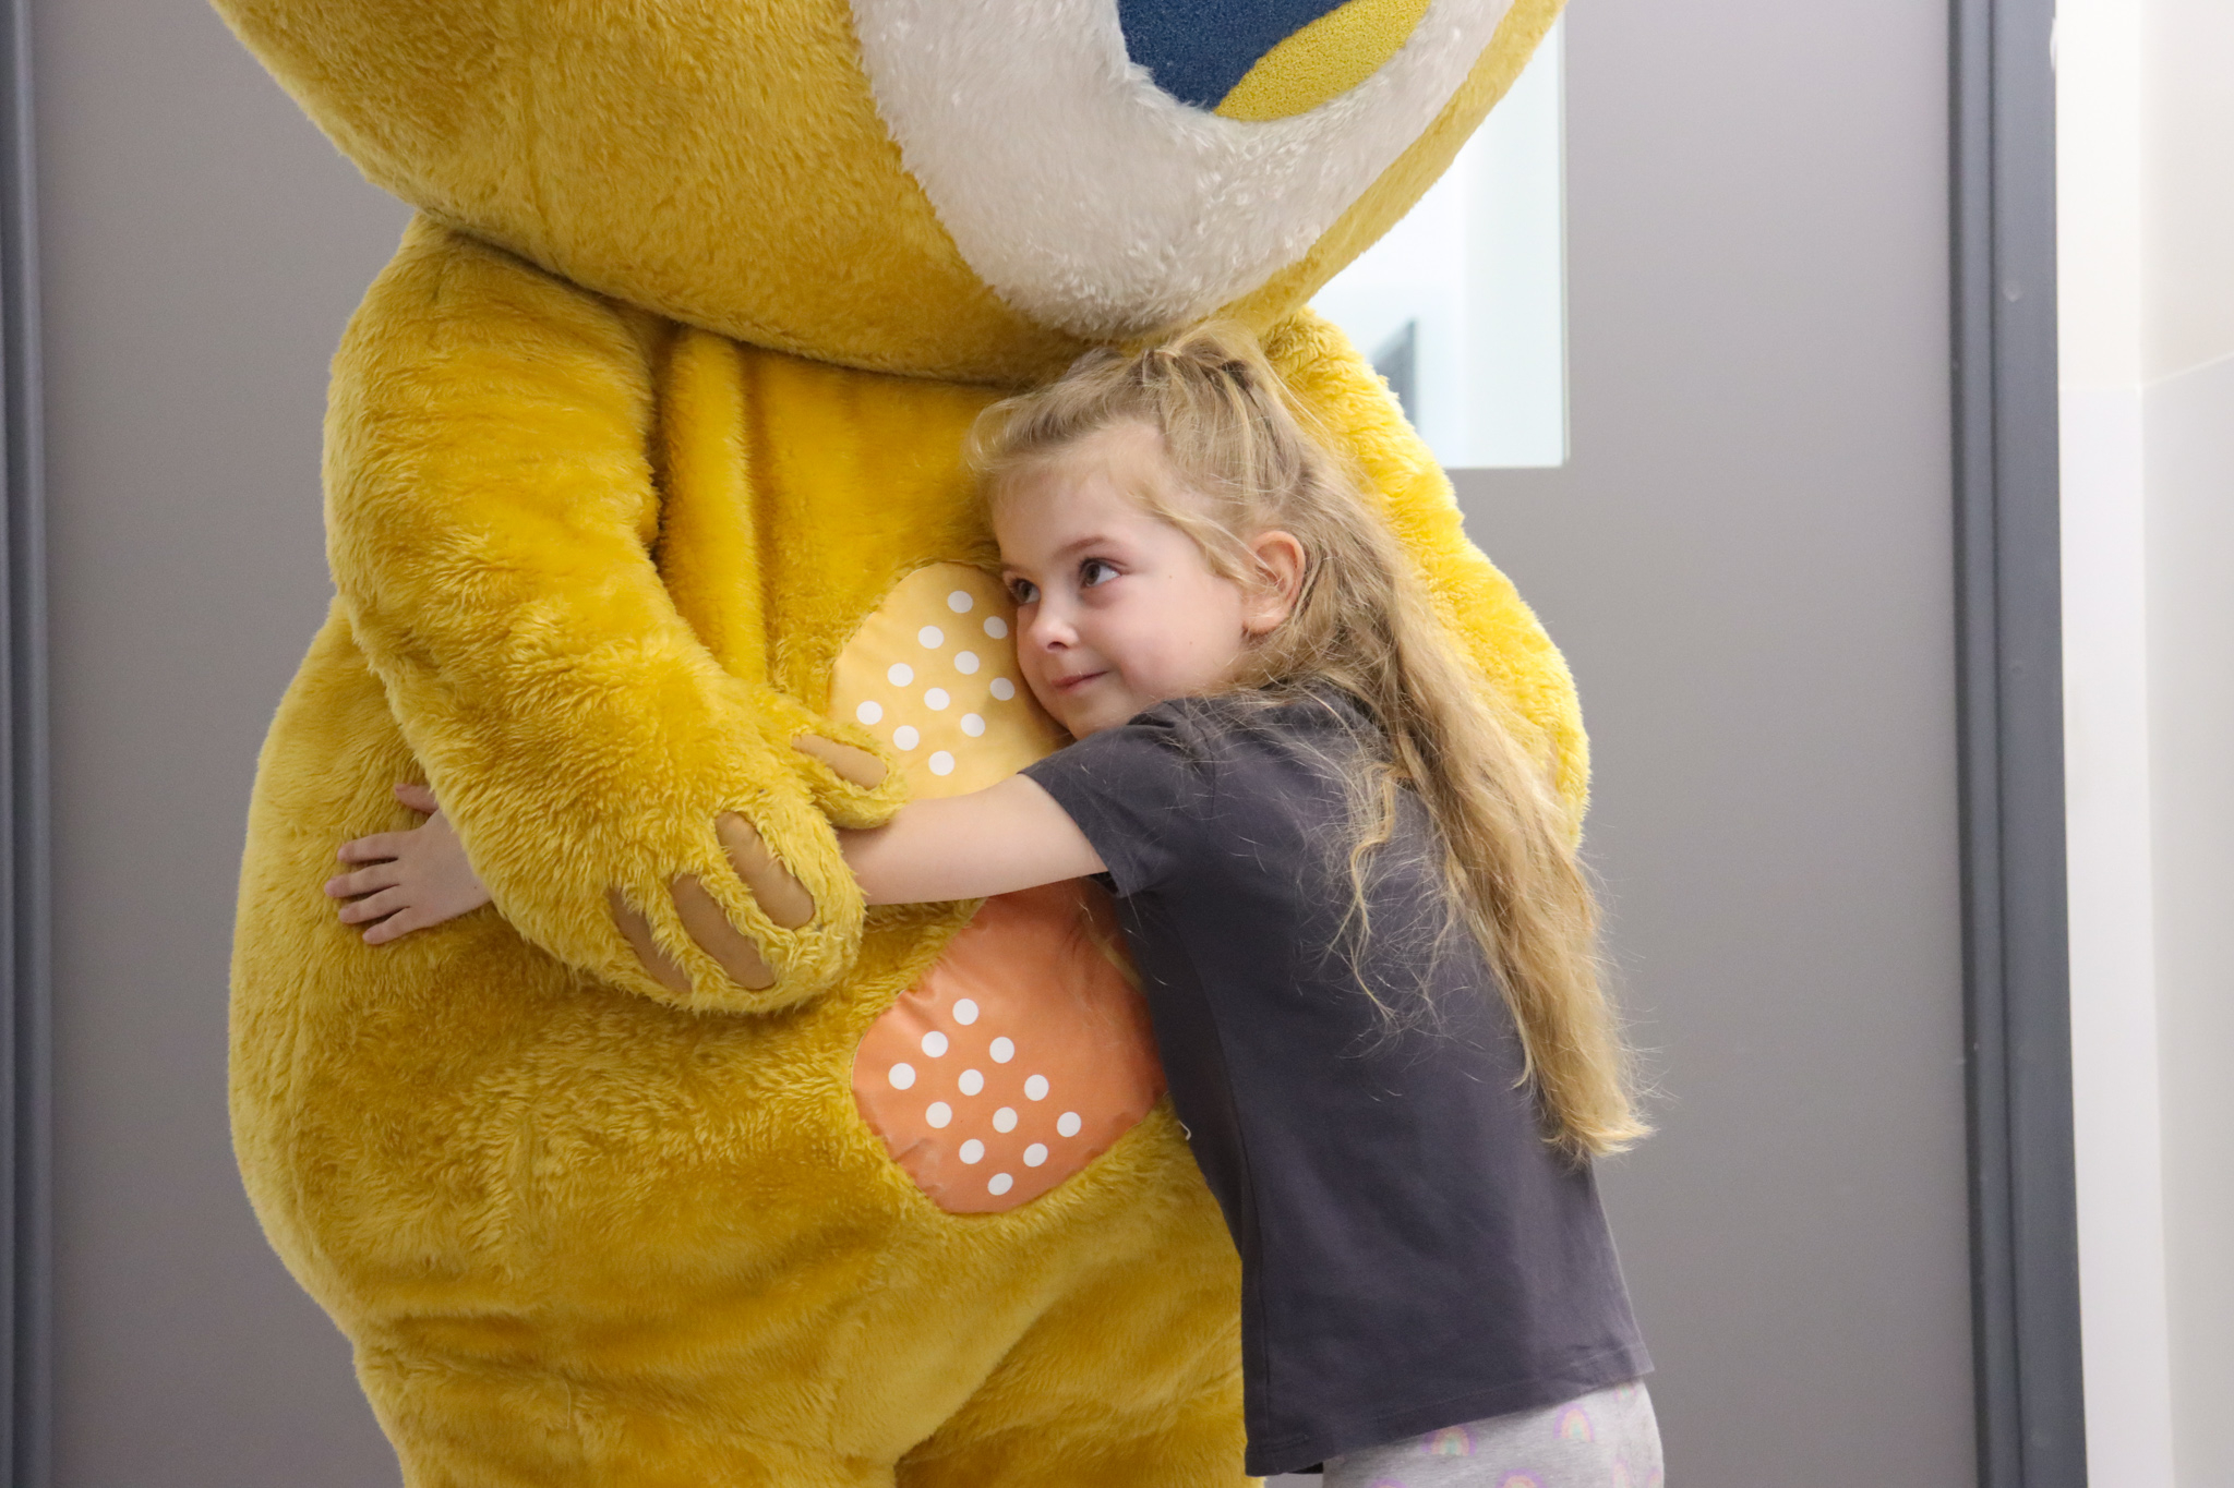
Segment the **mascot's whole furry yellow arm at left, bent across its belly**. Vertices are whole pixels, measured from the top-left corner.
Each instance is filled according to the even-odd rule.
[[[882,821],[898,776],[724,671],[668,598],[663,335],[413,225],[335,357],[326,531],[357,645],[505,919],[650,997],[762,1011],[851,964],[862,901],[831,823]]]

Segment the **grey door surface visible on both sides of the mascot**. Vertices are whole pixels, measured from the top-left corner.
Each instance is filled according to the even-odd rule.
[[[1575,464],[1463,480],[1582,678],[1664,1133],[1608,1173],[1676,1484],[1970,1481],[1944,7],[1579,0]],[[194,0],[38,9],[60,1484],[393,1484],[223,1120],[324,361],[402,210]]]

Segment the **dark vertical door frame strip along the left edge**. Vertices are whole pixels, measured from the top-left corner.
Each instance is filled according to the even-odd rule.
[[[0,584],[0,707],[7,727],[7,859],[0,861],[0,966],[7,970],[7,1017],[0,1040],[0,1162],[9,1165],[0,1202],[7,1225],[9,1350],[7,1481],[47,1488],[54,1421],[51,1314],[51,1120],[49,1120],[49,825],[47,825],[47,538],[45,462],[40,457],[38,361],[38,214],[31,136],[31,4],[0,0],[0,439],[7,442],[7,562]]]

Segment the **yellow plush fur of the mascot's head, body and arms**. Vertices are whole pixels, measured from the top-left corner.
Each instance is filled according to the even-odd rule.
[[[232,1109],[273,1245],[422,1488],[1240,1484],[1238,1274],[1159,1109],[1030,1205],[936,1209],[862,1124],[865,1028],[972,906],[862,912],[791,747],[909,571],[990,562],[961,435],[1075,350],[898,165],[840,0],[221,0],[424,207],[335,359],[337,600],[264,750]],[[1385,388],[1302,294],[1517,71],[1242,306],[1582,799],[1573,687]],[[1327,243],[1334,243],[1331,248]],[[442,796],[496,906],[366,948],[319,886]],[[773,924],[715,819],[818,906]],[[777,973],[681,926],[697,875]],[[688,975],[643,968],[610,895]]]

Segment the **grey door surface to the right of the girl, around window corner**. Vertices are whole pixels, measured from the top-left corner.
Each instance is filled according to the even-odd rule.
[[[1937,0],[1577,0],[1573,464],[1461,480],[1582,683],[1662,1133],[1669,1481],[1973,1481]]]

